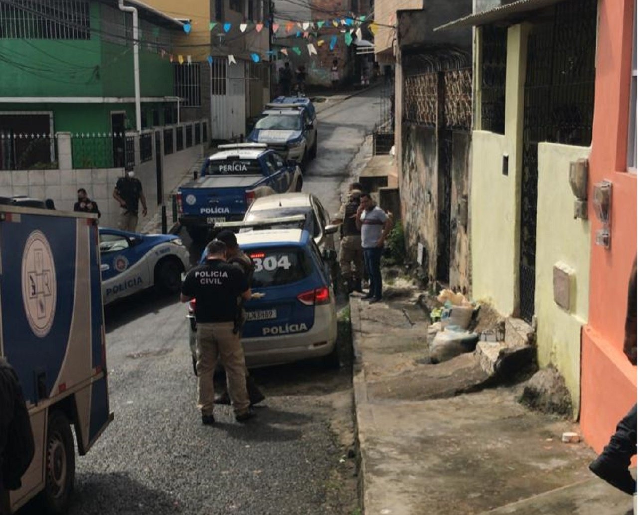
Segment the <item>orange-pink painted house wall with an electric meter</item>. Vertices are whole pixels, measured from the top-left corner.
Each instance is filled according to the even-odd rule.
[[[590,199],[612,182],[611,248],[595,244],[602,227],[590,202],[589,323],[582,333],[581,428],[597,451],[636,401],[636,369],[622,353],[627,284],[636,254],[636,176],[627,172],[627,125],[634,0],[600,0]]]

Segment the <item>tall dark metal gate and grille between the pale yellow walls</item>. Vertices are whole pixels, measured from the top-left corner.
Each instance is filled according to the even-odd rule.
[[[528,41],[519,262],[519,311],[528,322],[535,311],[538,143],[589,145],[593,119],[597,0],[551,10]]]

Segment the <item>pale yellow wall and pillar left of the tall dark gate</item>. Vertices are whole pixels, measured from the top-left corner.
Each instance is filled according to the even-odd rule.
[[[505,316],[512,315],[517,304],[526,33],[521,25],[508,30],[505,135],[480,130],[472,135],[471,294],[489,301]],[[477,31],[478,48],[480,41]],[[504,154],[509,161],[507,175],[503,175]]]

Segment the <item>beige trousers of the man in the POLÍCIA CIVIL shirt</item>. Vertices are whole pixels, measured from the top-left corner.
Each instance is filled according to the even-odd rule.
[[[228,394],[235,415],[248,411],[246,361],[239,334],[233,332],[233,327],[233,322],[197,324],[197,407],[202,415],[212,415],[215,400],[212,377],[218,359],[226,369]]]

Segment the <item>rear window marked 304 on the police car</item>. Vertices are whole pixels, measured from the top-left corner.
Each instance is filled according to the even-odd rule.
[[[296,283],[312,272],[310,260],[300,248],[269,248],[246,253],[255,265],[252,288]]]

